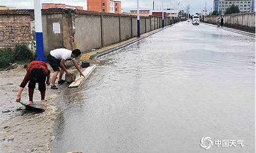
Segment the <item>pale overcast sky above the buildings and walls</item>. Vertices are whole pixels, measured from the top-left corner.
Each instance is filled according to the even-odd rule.
[[[153,0],[139,0],[140,9],[152,9]],[[207,10],[213,7],[213,0],[163,0],[164,8],[167,8],[172,4],[172,8],[175,4],[180,2],[179,7],[185,8],[186,5],[190,5],[190,10],[192,14],[195,12],[201,12],[207,3]],[[17,9],[33,9],[33,0],[0,0],[0,5],[16,7]],[[137,0],[122,0],[123,11],[129,12],[130,10],[136,9]],[[87,9],[86,0],[41,0],[41,3],[63,3],[73,6],[82,6]],[[160,9],[162,5],[162,0],[155,0],[155,9]]]

